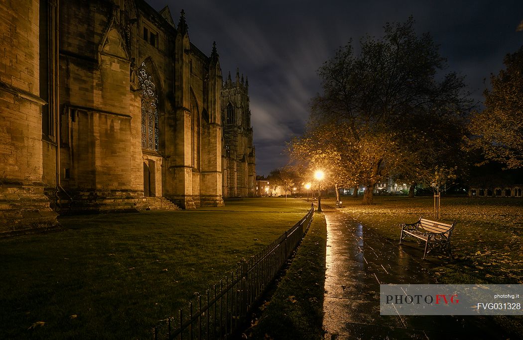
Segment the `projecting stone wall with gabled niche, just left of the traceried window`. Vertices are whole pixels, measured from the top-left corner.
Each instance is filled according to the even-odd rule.
[[[72,211],[145,208],[140,97],[112,8],[61,6],[61,177]]]

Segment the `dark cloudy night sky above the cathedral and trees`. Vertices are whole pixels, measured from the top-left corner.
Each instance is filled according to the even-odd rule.
[[[146,1],[156,10],[168,5],[176,24],[183,8],[190,41],[207,55],[216,41],[224,79],[230,71],[234,80],[236,67],[248,76],[258,175],[287,164],[286,142],[302,133],[321,89],[317,70],[350,38],[381,37],[385,22],[412,15],[478,101],[504,55],[523,45],[522,0]]]

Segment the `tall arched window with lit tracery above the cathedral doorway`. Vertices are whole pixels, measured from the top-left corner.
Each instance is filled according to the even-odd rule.
[[[142,148],[158,151],[158,95],[145,63],[138,70],[138,80],[142,89]]]

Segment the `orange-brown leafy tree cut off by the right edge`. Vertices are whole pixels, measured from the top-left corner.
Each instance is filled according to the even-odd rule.
[[[472,116],[469,145],[516,169],[523,167],[523,46],[503,63],[506,69],[491,75],[492,89],[483,93],[485,109]]]

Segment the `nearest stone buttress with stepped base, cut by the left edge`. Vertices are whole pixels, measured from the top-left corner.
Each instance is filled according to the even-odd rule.
[[[0,233],[57,224],[43,194],[38,18],[39,1],[0,10]]]

